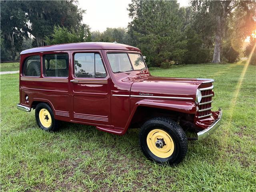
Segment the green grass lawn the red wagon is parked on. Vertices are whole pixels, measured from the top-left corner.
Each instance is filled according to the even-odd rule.
[[[1,75],[2,191],[256,191],[256,66],[197,64],[156,69],[152,75],[214,78],[214,110],[222,126],[202,142],[189,142],[178,166],[148,161],[138,130],[124,136],[66,123],[40,130],[16,109],[18,74]],[[241,78],[241,76],[244,77]]]

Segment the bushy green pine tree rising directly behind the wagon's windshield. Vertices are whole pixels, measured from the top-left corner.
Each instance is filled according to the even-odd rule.
[[[128,5],[132,22],[128,25],[129,41],[140,47],[149,66],[175,60],[184,62],[184,10],[176,1],[136,1]]]

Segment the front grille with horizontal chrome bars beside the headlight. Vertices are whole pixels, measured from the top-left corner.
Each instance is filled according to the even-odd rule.
[[[198,118],[204,118],[212,115],[212,97],[214,96],[212,89],[213,86],[199,89],[202,93],[202,100],[198,105]]]

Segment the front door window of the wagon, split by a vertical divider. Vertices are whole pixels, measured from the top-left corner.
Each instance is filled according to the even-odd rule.
[[[74,55],[75,77],[97,78],[106,77],[100,54],[98,53],[76,53]]]

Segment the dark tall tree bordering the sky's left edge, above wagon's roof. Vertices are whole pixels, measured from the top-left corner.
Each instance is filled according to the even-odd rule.
[[[78,29],[85,12],[73,0],[24,1],[24,4],[31,23],[30,33],[35,37],[34,46],[43,46],[45,36],[52,34],[56,25]]]

